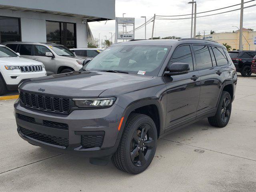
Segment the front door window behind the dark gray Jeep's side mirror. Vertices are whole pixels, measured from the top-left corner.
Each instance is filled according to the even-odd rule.
[[[170,63],[174,62],[187,63],[189,64],[190,71],[194,70],[192,53],[189,45],[180,46],[176,49],[170,60]]]

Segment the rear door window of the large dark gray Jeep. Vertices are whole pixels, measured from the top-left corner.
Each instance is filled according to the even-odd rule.
[[[193,45],[196,59],[196,69],[212,67],[210,51],[206,45]]]

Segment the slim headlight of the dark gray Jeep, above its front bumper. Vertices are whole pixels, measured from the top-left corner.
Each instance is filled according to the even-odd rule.
[[[73,99],[76,106],[80,108],[110,107],[114,104],[116,98],[98,98],[98,99]]]

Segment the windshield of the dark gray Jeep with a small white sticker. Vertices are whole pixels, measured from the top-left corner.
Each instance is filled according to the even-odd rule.
[[[111,46],[83,69],[157,76],[170,46]]]

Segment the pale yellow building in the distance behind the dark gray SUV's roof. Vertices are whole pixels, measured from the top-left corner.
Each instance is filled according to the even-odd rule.
[[[222,32],[222,33],[214,33],[209,35],[200,35],[200,39],[206,39],[206,40],[213,40],[220,44],[227,43],[232,47],[232,49],[238,49],[239,48],[239,30],[234,32]],[[256,31],[250,31],[246,28],[243,28],[243,50],[249,50],[249,44],[250,44],[250,50],[256,50],[256,45],[254,45],[254,38],[256,37]],[[247,41],[248,42],[247,42]],[[249,43],[249,44],[248,44]]]

